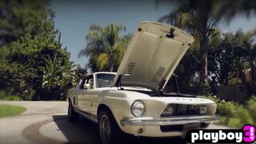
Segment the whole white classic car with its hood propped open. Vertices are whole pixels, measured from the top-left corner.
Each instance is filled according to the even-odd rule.
[[[69,121],[79,114],[97,122],[103,143],[118,142],[123,133],[182,136],[218,121],[210,99],[162,92],[192,42],[177,27],[142,22],[117,73],[90,74],[69,90]]]

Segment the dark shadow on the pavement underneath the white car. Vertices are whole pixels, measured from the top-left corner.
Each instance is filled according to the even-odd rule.
[[[97,125],[86,118],[80,117],[78,122],[68,122],[66,115],[53,115],[54,122],[62,134],[65,135],[68,143],[100,144]],[[170,144],[186,143],[182,138],[136,138],[128,136],[126,142],[122,143],[139,143],[139,144]]]

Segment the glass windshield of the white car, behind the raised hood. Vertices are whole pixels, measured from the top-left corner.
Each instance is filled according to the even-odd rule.
[[[115,74],[97,74],[96,87],[110,87]]]

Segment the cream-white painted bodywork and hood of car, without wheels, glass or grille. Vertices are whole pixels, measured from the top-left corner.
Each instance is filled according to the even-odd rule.
[[[77,86],[68,91],[67,99],[74,106],[74,110],[78,114],[98,122],[98,110],[100,110],[101,106],[106,106],[113,114],[115,121],[122,131],[127,134],[147,137],[171,137],[184,134],[184,130],[163,132],[160,129],[161,126],[169,126],[172,123],[175,123],[175,125],[178,123],[182,125],[183,123],[184,127],[186,127],[191,126],[187,124],[192,122],[194,127],[200,127],[198,125],[202,122],[210,123],[216,121],[214,114],[217,105],[210,99],[194,96],[187,97],[186,95],[179,94],[167,94],[167,97],[162,93],[159,93],[159,96],[150,96],[150,93],[158,93],[158,90],[166,85],[166,82],[173,74],[174,69],[186,50],[194,41],[194,38],[174,26],[157,22],[142,22],[139,28],[142,28],[142,30],[134,34],[117,73],[94,73],[84,80],[84,82],[87,82],[89,78],[93,78],[93,89],[81,89],[81,86]],[[174,38],[164,38],[166,31],[168,32],[170,28],[175,30]],[[150,38],[150,41],[141,38],[144,37],[142,35],[144,33],[146,33],[145,37],[149,34],[150,37],[152,36],[152,38],[157,39],[155,43],[154,38]],[[160,37],[162,38],[159,39]],[[147,50],[146,47],[150,50]],[[135,65],[138,67],[134,66],[133,70],[129,71],[129,62],[135,62]],[[161,66],[165,70],[156,78],[158,69]],[[112,86],[97,87],[98,74],[116,74],[113,78]],[[117,87],[120,75],[124,76],[121,79],[122,88]],[[155,81],[153,82],[153,80]],[[139,118],[131,113],[130,108],[133,102],[138,100],[143,102],[145,106],[145,113]],[[162,111],[170,104],[205,105],[207,115],[162,118]],[[141,128],[143,128],[143,132],[138,134],[138,129]]]

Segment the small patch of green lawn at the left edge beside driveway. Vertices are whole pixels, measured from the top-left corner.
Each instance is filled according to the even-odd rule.
[[[22,114],[25,111],[26,108],[22,106],[0,104],[0,118]]]

